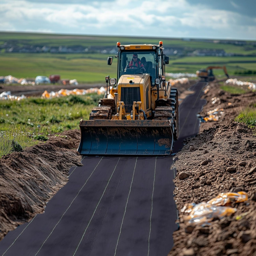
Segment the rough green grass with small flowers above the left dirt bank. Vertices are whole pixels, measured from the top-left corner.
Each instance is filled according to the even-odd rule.
[[[0,156],[14,151],[14,143],[24,148],[38,140],[47,140],[50,134],[78,129],[79,121],[88,119],[101,97],[91,93],[54,99],[0,101]]]

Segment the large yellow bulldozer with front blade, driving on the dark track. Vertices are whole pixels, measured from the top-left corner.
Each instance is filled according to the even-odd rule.
[[[117,78],[106,76],[104,98],[89,120],[80,121],[78,151],[84,155],[171,154],[178,137],[178,93],[166,81],[169,57],[163,53],[163,42],[117,42],[116,46]],[[131,62],[134,56],[137,65]],[[108,57],[108,65],[112,61],[113,56]]]

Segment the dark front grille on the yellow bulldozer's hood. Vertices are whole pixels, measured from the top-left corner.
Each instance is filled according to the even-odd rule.
[[[140,87],[122,87],[121,101],[125,103],[126,113],[131,113],[134,101],[140,101]]]

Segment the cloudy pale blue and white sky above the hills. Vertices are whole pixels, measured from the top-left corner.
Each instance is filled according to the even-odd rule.
[[[0,0],[0,31],[256,40],[256,0]]]

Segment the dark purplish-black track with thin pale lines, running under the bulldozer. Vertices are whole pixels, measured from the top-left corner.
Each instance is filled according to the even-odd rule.
[[[180,139],[198,133],[204,100],[199,82],[180,105]],[[0,255],[165,256],[177,229],[172,157],[84,157],[84,166],[44,214],[9,232]]]

